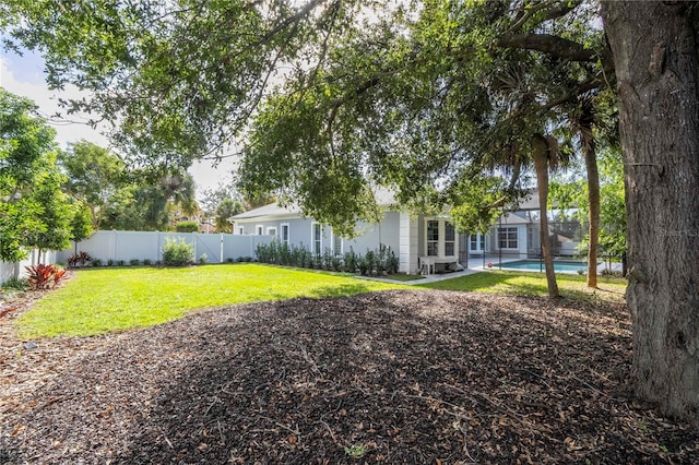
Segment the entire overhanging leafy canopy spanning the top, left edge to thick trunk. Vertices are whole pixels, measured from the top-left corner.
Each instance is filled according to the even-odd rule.
[[[345,233],[376,219],[376,184],[420,210],[470,199],[460,182],[519,164],[552,110],[613,75],[582,2],[8,4],[26,26],[9,33],[44,52],[52,85],[95,93],[71,105],[120,121],[131,159],[221,155],[257,115],[248,196],[300,203]]]

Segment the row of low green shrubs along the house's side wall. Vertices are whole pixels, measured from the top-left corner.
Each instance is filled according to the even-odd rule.
[[[390,247],[381,246],[377,250],[367,250],[362,255],[350,248],[348,252],[335,254],[325,249],[322,253],[313,253],[304,245],[289,246],[280,240],[269,245],[258,243],[258,261],[303,269],[328,270],[345,273],[359,273],[365,276],[380,276],[398,273],[399,260]]]

